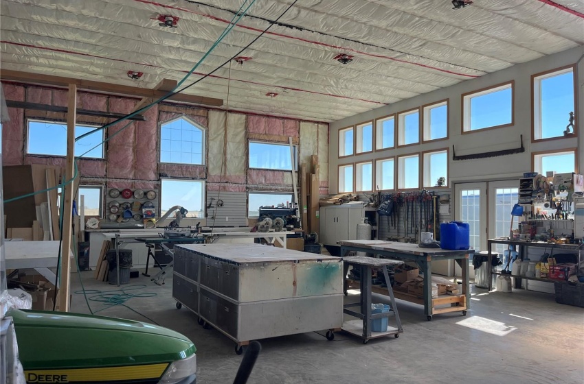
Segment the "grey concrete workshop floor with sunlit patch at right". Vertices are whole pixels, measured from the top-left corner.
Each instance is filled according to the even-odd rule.
[[[93,279],[93,272],[81,276],[85,289],[117,289]],[[126,304],[194,342],[197,383],[232,383],[242,359],[234,353],[234,342],[203,329],[188,309],[176,309],[172,276],[161,287],[142,275],[131,279],[130,285],[139,284],[146,287],[129,292],[156,296],[131,298]],[[71,290],[79,289],[74,274]],[[446,313],[431,322],[422,306],[397,300],[404,329],[398,339],[384,337],[363,345],[344,333],[328,341],[324,332],[263,339],[248,383],[584,383],[584,309],[557,304],[549,293],[523,289],[488,293],[473,287],[472,292],[466,317]],[[387,302],[383,296],[374,299]],[[90,303],[93,311],[105,307]],[[74,294],[72,311],[89,313],[82,294]],[[148,322],[122,306],[99,315]]]

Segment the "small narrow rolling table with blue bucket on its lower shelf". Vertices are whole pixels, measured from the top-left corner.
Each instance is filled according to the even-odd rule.
[[[363,339],[363,344],[367,344],[369,339],[374,339],[377,337],[388,335],[394,335],[394,337],[398,337],[400,333],[403,333],[403,328],[401,326],[401,320],[399,319],[399,313],[397,311],[396,300],[394,298],[391,284],[388,284],[387,288],[388,296],[390,296],[391,302],[390,311],[374,314],[371,313],[371,272],[373,270],[383,270],[383,277],[385,277],[386,282],[389,282],[390,276],[388,274],[387,266],[396,265],[401,262],[390,259],[374,259],[372,257],[366,256],[348,256],[343,258],[343,263],[345,276],[350,266],[353,268],[358,268],[361,276],[361,279],[359,280],[359,285],[361,288],[359,302],[344,304],[343,311],[344,313],[358,317],[361,320],[350,320],[348,322],[344,322],[341,329],[351,333],[352,335],[361,337],[361,339]],[[351,307],[361,307],[361,312],[348,309]],[[372,331],[372,322],[374,320],[382,320],[385,317],[395,317],[396,327],[388,326],[385,331],[381,332]]]

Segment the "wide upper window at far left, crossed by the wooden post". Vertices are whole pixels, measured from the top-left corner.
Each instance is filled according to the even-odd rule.
[[[75,125],[75,137],[95,130],[89,125]],[[104,157],[104,130],[98,130],[75,142],[75,156]],[[89,152],[88,152],[89,151]],[[27,154],[67,156],[67,123],[28,121]]]

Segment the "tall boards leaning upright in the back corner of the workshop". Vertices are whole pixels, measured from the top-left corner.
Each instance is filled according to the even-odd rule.
[[[302,229],[306,234],[318,233],[319,226],[319,171],[318,156],[312,155],[310,163],[300,165],[300,205]]]

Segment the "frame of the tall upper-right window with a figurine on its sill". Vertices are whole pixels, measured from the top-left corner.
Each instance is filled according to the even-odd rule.
[[[574,71],[574,66],[570,65],[570,67],[554,69],[550,72],[539,73],[537,75],[532,75],[532,87],[533,87],[533,94],[532,94],[532,121],[533,121],[533,140],[550,140],[550,139],[557,139],[563,138],[563,131],[565,130],[564,125],[562,124],[563,121],[558,122],[558,127],[561,128],[559,130],[559,134],[557,136],[551,137],[541,137],[543,135],[543,128],[541,127],[541,81],[549,79],[550,77],[556,77],[559,75],[565,75],[566,73],[572,73],[572,98],[574,99],[574,105],[572,106],[572,112],[576,113],[576,86],[574,82],[576,81],[576,73]],[[568,119],[570,117],[565,117],[565,123],[568,125]],[[578,124],[577,119],[574,119],[574,134],[578,131],[576,130]],[[575,136],[575,135],[574,135]]]

